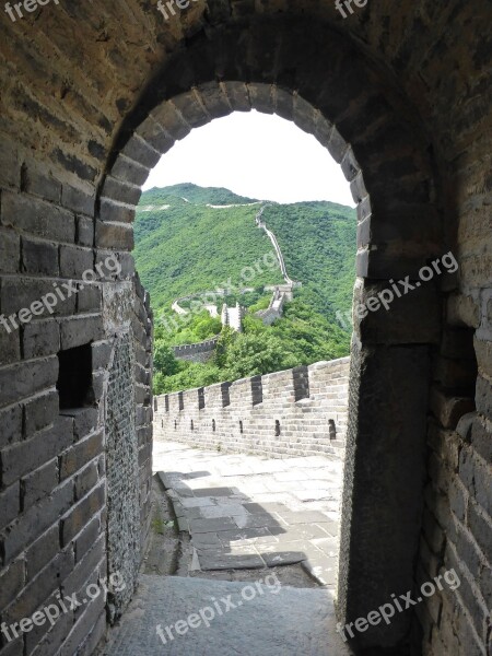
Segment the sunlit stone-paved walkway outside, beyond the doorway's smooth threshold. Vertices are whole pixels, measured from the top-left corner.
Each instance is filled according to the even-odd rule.
[[[265,459],[154,444],[154,470],[194,547],[191,569],[301,563],[335,588],[342,465],[326,457]]]

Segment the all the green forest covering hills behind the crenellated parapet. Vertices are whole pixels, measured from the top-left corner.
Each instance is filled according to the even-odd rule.
[[[268,307],[266,285],[282,283],[272,244],[255,224],[261,204],[227,189],[191,184],[142,195],[136,219],[136,262],[155,320],[156,394],[235,380],[347,355],[350,333],[336,319],[351,307],[355,211],[330,202],[268,203],[262,219],[278,238],[289,276],[302,283],[272,326],[255,316]],[[243,333],[222,329],[203,309],[246,307]],[[194,296],[196,294],[196,296]],[[171,309],[176,298],[190,309]],[[194,307],[195,303],[195,307]],[[218,337],[213,358],[190,363],[172,347]]]

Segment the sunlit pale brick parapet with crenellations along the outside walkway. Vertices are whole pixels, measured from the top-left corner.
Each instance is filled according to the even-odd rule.
[[[224,452],[343,458],[349,366],[350,359],[343,358],[244,378],[229,387],[226,406],[223,384],[206,387],[202,395],[191,389],[155,397],[154,437]]]

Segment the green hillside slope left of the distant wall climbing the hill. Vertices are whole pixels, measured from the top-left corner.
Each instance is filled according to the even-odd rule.
[[[262,263],[273,247],[255,225],[260,206],[207,206],[249,202],[225,189],[195,185],[142,194],[134,222],[134,258],[156,311],[169,312],[180,296],[213,291],[230,282],[239,289],[282,282],[279,267]],[[255,268],[253,280],[243,277],[246,267]]]

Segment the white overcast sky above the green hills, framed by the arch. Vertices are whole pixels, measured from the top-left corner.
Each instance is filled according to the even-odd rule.
[[[143,189],[195,183],[288,203],[355,207],[340,166],[312,134],[278,116],[249,112],[192,130],[151,172]]]

